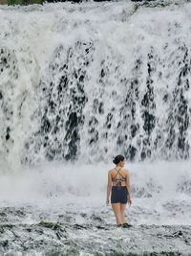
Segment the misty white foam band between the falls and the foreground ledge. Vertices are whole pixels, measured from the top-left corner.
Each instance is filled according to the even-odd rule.
[[[82,213],[95,213],[113,222],[111,207],[105,205],[107,172],[111,167],[44,164],[17,175],[2,175],[0,202],[2,206],[31,205],[33,210],[38,207],[53,216],[71,211],[78,222],[85,221]],[[190,192],[180,190],[183,176],[191,180],[190,162],[128,164],[128,169],[133,205],[127,207],[127,215],[133,223],[191,224]],[[28,221],[33,218],[30,216]]]

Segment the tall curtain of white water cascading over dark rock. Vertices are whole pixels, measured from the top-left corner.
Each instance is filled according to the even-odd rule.
[[[191,5],[162,3],[1,8],[1,161],[189,158]]]

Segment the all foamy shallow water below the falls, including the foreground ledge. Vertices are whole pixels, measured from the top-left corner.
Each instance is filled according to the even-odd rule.
[[[189,168],[189,162],[128,164],[129,229],[116,227],[111,206],[105,204],[109,165],[48,163],[2,175],[1,253],[189,255]]]

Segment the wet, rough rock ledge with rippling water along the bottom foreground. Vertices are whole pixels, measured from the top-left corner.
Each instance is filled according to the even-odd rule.
[[[43,220],[42,214],[33,223],[6,222],[13,213],[27,216],[24,208],[1,209],[0,255],[191,255],[190,225],[123,228],[96,214],[86,223],[67,221],[64,214],[59,221]]]

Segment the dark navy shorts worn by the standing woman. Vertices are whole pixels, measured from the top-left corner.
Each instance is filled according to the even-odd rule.
[[[111,203],[127,203],[127,187],[126,186],[112,186]]]

